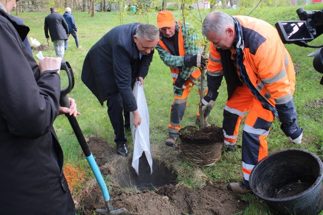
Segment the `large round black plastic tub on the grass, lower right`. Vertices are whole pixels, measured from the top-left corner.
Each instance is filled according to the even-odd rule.
[[[300,149],[283,150],[253,168],[249,184],[253,193],[279,214],[318,214],[322,210],[321,160]]]

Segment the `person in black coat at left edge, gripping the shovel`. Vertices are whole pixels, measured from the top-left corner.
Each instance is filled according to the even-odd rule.
[[[0,214],[75,215],[52,124],[79,113],[73,99],[60,108],[61,58],[37,64],[22,41],[29,28],[8,15],[15,3],[0,0]]]

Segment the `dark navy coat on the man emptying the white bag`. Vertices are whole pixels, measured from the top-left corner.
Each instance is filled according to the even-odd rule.
[[[140,23],[113,28],[93,45],[85,57],[82,81],[101,105],[120,93],[125,110],[137,109],[132,86],[137,77],[146,77],[154,52],[142,55],[140,59],[133,39],[138,25]]]

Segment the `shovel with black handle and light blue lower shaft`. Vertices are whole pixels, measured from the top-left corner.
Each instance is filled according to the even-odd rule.
[[[61,70],[66,71],[69,85],[67,88],[61,89],[60,105],[62,107],[70,107],[70,101],[67,97],[67,94],[70,93],[74,87],[73,71],[72,71],[70,64],[66,61],[62,61]],[[121,208],[121,209],[117,209],[117,210],[113,209],[113,206],[112,206],[112,203],[110,200],[109,191],[107,190],[107,187],[106,187],[106,184],[105,184],[104,179],[102,177],[102,174],[101,174],[101,172],[94,160],[94,157],[93,157],[93,155],[86,143],[86,140],[84,138],[84,135],[82,133],[82,130],[81,130],[76,118],[73,115],[69,115],[69,114],[65,114],[65,116],[68,118],[68,120],[73,128],[76,138],[79,141],[82,151],[86,157],[86,160],[89,163],[91,170],[95,176],[95,179],[96,179],[97,183],[99,184],[100,189],[103,194],[103,199],[104,199],[105,205],[107,207],[107,210],[96,209],[95,211],[98,213],[102,213],[102,214],[133,215],[126,208]]]

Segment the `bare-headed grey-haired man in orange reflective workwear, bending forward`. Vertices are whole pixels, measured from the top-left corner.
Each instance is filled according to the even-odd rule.
[[[229,183],[236,193],[249,193],[249,175],[267,156],[267,137],[274,117],[294,144],[300,144],[303,129],[297,124],[293,100],[295,70],[277,30],[251,17],[231,17],[223,12],[206,16],[202,34],[211,42],[207,65],[209,93],[217,93],[223,77],[228,101],[224,108],[225,146],[233,149],[242,118],[247,115],[242,133],[242,183]],[[205,106],[214,100],[206,95]],[[211,103],[210,105],[208,103]]]

